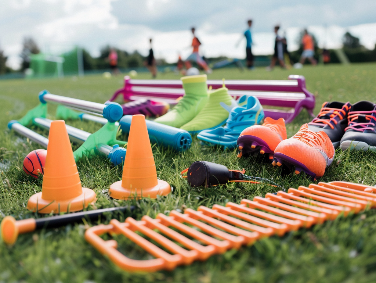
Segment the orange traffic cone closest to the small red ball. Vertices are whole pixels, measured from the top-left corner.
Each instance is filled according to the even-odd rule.
[[[52,121],[42,192],[30,197],[27,209],[39,213],[73,212],[95,201],[96,193],[81,186],[65,122]]]

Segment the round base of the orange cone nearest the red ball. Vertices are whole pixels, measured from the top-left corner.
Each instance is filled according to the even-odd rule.
[[[38,192],[32,195],[27,202],[27,209],[36,212],[38,206],[38,213],[59,213],[59,212],[74,212],[84,209],[90,203],[94,203],[96,198],[96,193],[88,188],[82,188],[82,194],[78,197],[72,198],[70,200],[58,200],[50,201],[44,200],[42,198],[42,192]]]

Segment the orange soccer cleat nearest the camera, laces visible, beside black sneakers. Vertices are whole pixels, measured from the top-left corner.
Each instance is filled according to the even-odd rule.
[[[316,179],[324,175],[333,160],[334,146],[329,136],[324,131],[313,132],[304,124],[294,136],[277,145],[273,165],[293,165],[296,174],[303,170]]]

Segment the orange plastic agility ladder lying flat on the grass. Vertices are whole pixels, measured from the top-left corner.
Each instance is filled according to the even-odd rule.
[[[350,212],[375,207],[374,192],[374,187],[366,185],[319,182],[308,188],[300,186],[290,188],[288,192],[268,193],[265,198],[244,199],[240,204],[200,206],[197,211],[188,208],[184,213],[172,210],[169,216],[159,213],[153,219],[145,215],[141,221],[128,217],[124,223],[112,219],[108,225],[86,230],[85,239],[126,271],[172,270],[178,265],[189,265],[194,260],[206,260],[213,254],[238,249],[241,245],[252,245],[260,238],[283,236],[301,227],[334,220],[339,215],[347,216]],[[155,258],[129,259],[117,250],[115,240],[105,241],[100,237],[105,233],[122,234]]]

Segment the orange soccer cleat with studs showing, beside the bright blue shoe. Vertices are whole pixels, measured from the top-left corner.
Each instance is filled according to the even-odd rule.
[[[250,126],[241,132],[237,141],[238,157],[260,151],[261,154],[268,153],[269,159],[273,159],[274,150],[284,139],[287,139],[285,120],[266,117],[264,124]]]

